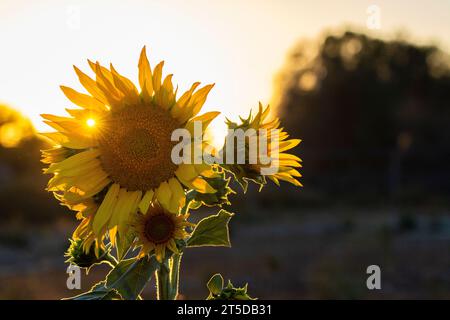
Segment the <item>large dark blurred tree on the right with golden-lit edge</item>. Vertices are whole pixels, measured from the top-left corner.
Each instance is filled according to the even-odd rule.
[[[293,50],[277,97],[282,123],[303,139],[305,190],[352,200],[448,195],[448,56],[353,32],[311,48]]]

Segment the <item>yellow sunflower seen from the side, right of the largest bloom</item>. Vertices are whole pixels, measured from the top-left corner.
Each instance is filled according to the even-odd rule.
[[[246,143],[244,146],[235,146],[235,161],[232,164],[225,163],[224,168],[231,172],[237,181],[242,185],[244,190],[247,189],[248,181],[253,181],[260,185],[262,188],[266,184],[266,178],[272,180],[278,186],[280,180],[292,183],[297,187],[301,187],[302,184],[296,179],[301,177],[301,174],[295,169],[301,167],[301,159],[293,154],[286,153],[286,151],[296,147],[301,140],[300,139],[288,139],[287,132],[280,128],[280,120],[274,118],[268,120],[270,113],[270,107],[267,106],[263,109],[261,103],[259,104],[258,113],[253,117],[250,113],[247,119],[241,119],[240,123],[235,123],[227,120],[229,129],[238,130],[242,129],[245,132],[250,132],[246,137]],[[253,129],[253,131],[249,131]],[[260,130],[265,129],[265,130]],[[276,131],[273,131],[276,130]],[[272,134],[276,132],[276,134]],[[267,159],[262,159],[262,155],[257,153],[256,161],[250,161],[249,158],[249,143],[253,141],[260,146],[260,140],[265,139],[266,142],[266,155],[267,159],[270,159],[268,163]],[[239,153],[245,154],[245,163],[239,164],[236,157]],[[226,157],[226,143],[222,149],[222,154]],[[276,168],[276,172],[273,170],[264,170],[268,168]]]

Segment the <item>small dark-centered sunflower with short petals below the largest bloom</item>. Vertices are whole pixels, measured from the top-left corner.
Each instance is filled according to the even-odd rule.
[[[166,248],[178,253],[176,240],[186,239],[189,236],[186,227],[194,226],[187,221],[188,217],[189,214],[171,213],[157,202],[153,202],[146,213],[137,212],[131,226],[137,237],[136,248],[141,247],[138,257],[154,252],[156,259],[162,262]]]

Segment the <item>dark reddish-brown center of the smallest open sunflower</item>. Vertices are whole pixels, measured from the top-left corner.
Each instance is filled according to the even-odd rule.
[[[148,217],[145,222],[145,237],[154,244],[166,243],[173,237],[175,223],[164,213]]]

